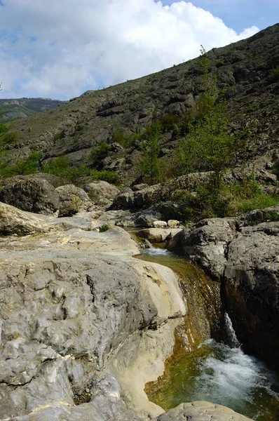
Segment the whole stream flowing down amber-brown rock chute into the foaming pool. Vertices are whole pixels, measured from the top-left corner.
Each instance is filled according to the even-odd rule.
[[[182,402],[210,401],[252,420],[278,421],[278,377],[266,364],[242,351],[222,309],[216,283],[184,258],[150,243],[147,247],[137,258],[177,272],[188,304],[186,319],[190,320],[180,335],[179,352],[166,361],[163,376],[146,385],[149,400],[165,410]],[[205,317],[206,322],[201,320]]]

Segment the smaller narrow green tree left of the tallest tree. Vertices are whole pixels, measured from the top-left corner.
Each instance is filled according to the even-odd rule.
[[[154,184],[160,175],[160,123],[156,120],[150,127],[146,129],[142,135],[144,140],[141,145],[142,156],[140,159],[140,168],[144,173],[144,178]]]

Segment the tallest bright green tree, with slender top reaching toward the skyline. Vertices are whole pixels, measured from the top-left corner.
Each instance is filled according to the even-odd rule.
[[[204,92],[198,101],[197,118],[189,122],[189,133],[180,142],[179,149],[184,173],[193,171],[197,165],[213,171],[213,185],[219,189],[231,162],[236,138],[228,133],[224,91],[217,88],[216,74],[210,73],[210,60],[204,48],[200,51]]]

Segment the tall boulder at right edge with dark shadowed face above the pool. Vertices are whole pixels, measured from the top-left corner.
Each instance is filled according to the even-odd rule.
[[[279,222],[243,229],[227,255],[224,298],[238,339],[279,368]]]

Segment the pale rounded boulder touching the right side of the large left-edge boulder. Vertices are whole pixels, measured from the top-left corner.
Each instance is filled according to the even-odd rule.
[[[93,210],[93,203],[90,201],[88,194],[79,187],[74,185],[64,185],[55,189],[60,206],[60,216],[72,216],[81,211]]]

